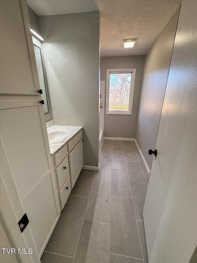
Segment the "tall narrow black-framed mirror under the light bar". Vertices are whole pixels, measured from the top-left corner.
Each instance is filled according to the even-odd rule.
[[[41,44],[41,43],[40,43]],[[42,45],[42,44],[41,44]],[[49,113],[47,97],[46,97],[46,85],[45,85],[45,78],[44,78],[44,70],[42,64],[42,56],[41,56],[41,48],[34,44],[34,53],[36,58],[36,65],[38,70],[38,79],[40,83],[40,88],[42,89],[42,100],[44,100],[44,113]]]

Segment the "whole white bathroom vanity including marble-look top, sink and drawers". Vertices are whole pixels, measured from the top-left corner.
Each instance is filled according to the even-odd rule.
[[[46,122],[46,127],[63,209],[83,167],[82,127],[54,125],[54,121]]]

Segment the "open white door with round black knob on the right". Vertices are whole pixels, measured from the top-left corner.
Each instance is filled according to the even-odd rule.
[[[197,245],[196,10],[183,0],[144,206],[151,263],[187,263]]]

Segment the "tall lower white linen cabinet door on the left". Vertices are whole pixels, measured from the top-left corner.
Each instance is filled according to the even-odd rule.
[[[39,99],[1,99],[1,138],[18,194],[42,255],[59,218],[58,187]],[[56,208],[57,206],[57,208]]]

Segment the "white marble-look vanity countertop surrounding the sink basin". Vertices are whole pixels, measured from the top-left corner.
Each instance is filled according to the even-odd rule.
[[[53,123],[50,123],[50,125]],[[59,140],[55,142],[49,142],[50,146],[50,154],[54,155],[56,154],[67,142],[70,141],[76,135],[83,127],[81,126],[63,126],[63,125],[52,125],[49,124],[47,126],[47,133],[50,134],[52,132],[59,132],[63,131],[66,132],[66,137],[60,138]]]

